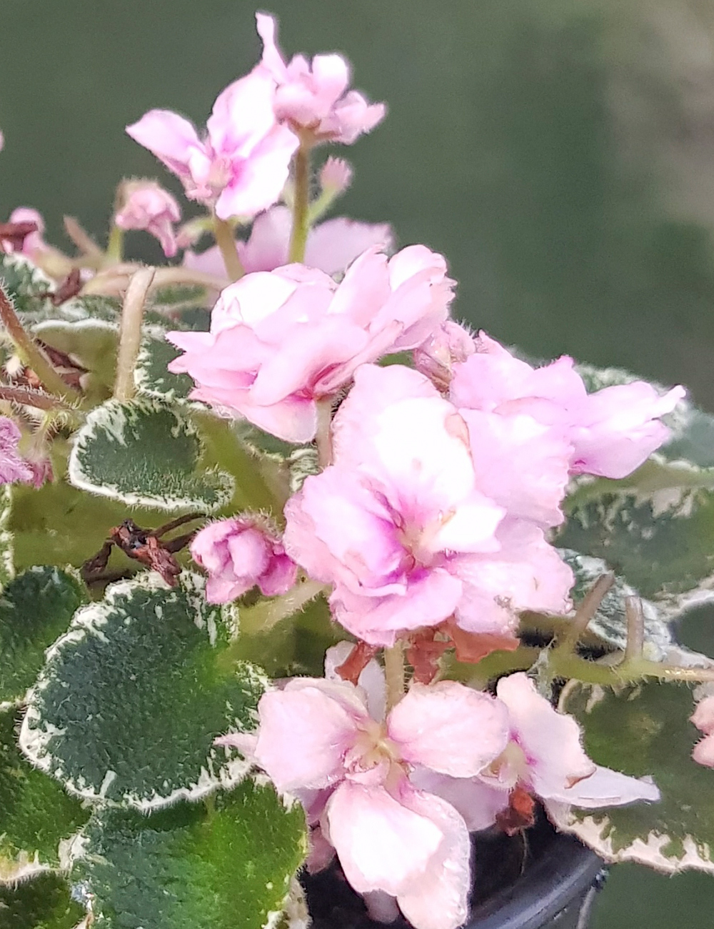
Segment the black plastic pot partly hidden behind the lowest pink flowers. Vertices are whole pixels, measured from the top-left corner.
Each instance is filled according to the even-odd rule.
[[[604,864],[541,818],[526,836],[479,835],[473,844],[474,891],[464,929],[587,929]],[[305,875],[314,929],[384,929],[374,922],[339,866]],[[398,919],[392,929],[409,929]]]

